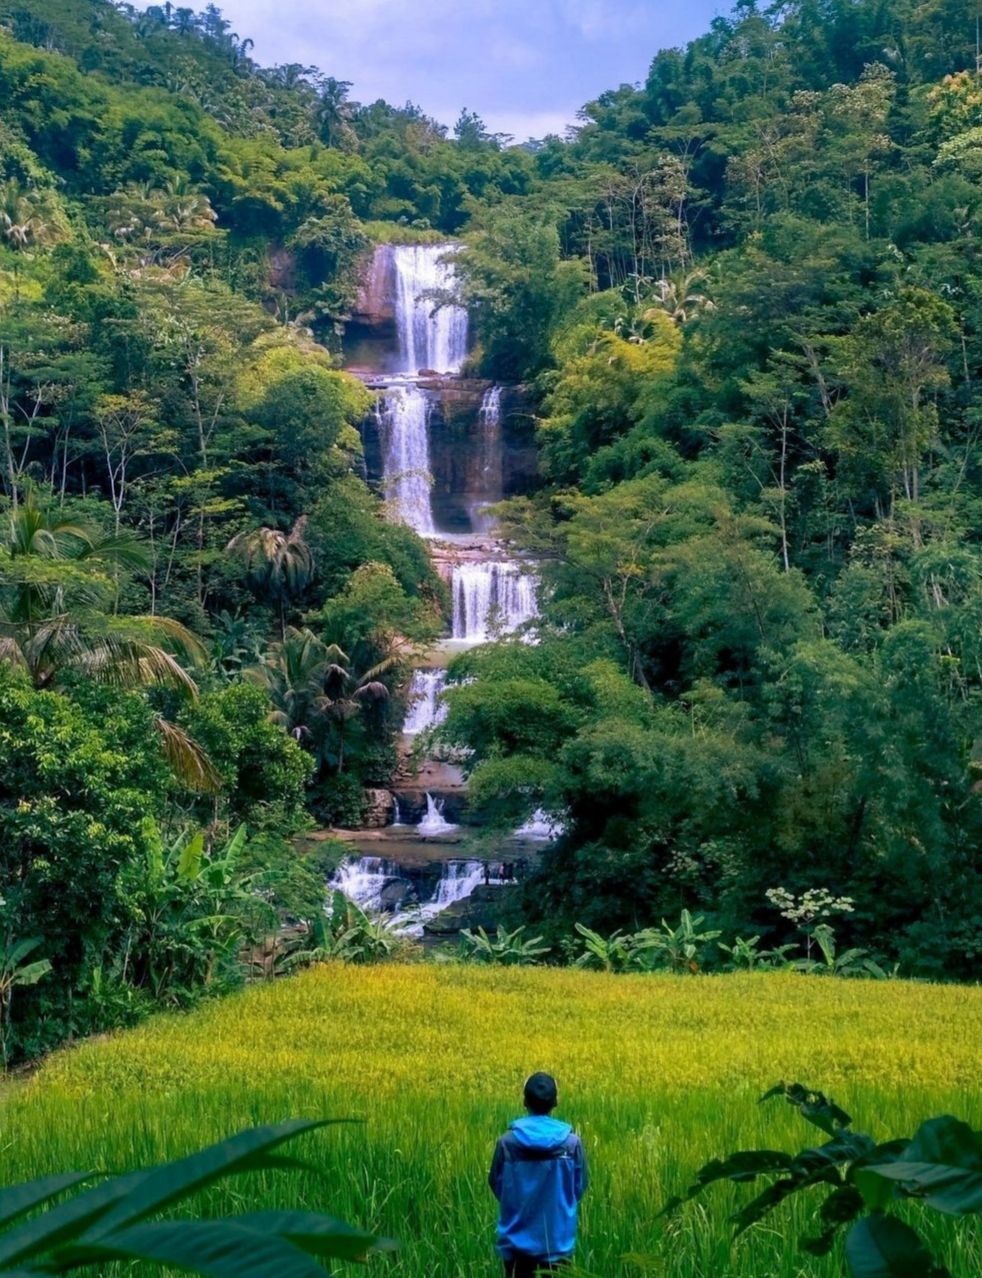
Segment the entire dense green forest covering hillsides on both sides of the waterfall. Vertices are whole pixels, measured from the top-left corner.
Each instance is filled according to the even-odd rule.
[[[821,888],[978,978],[978,65],[959,0],[740,0],[517,146],[214,5],[0,0],[5,1061],[239,984],[391,780],[450,599],[344,368],[377,244],[459,242],[533,406],[541,616],[433,732],[483,837],[563,819],[514,924],[780,946]]]

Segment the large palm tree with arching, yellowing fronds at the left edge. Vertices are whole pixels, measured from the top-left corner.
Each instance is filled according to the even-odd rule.
[[[170,617],[114,611],[120,576],[147,566],[132,534],[104,535],[63,519],[28,487],[0,535],[0,661],[42,690],[82,674],[115,688],[156,684],[197,697],[169,651],[198,659],[194,635]],[[157,717],[155,725],[175,774],[191,789],[214,790],[217,774],[201,746],[175,723]]]

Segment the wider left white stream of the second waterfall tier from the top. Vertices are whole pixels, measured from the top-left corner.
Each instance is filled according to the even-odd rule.
[[[386,498],[401,523],[423,534],[435,532],[430,504],[431,410],[426,391],[412,382],[390,386],[376,403]]]

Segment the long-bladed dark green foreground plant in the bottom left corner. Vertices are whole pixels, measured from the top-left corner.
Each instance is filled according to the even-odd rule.
[[[253,1127],[187,1158],[110,1176],[54,1206],[92,1173],[45,1176],[0,1190],[0,1278],[70,1273],[116,1260],[211,1278],[323,1278],[317,1260],[363,1260],[372,1250],[387,1249],[387,1241],[320,1212],[161,1218],[175,1203],[228,1176],[306,1167],[277,1146],[330,1121]],[[45,1210],[31,1215],[37,1208]]]

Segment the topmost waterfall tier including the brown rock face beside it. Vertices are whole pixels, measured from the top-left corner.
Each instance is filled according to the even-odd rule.
[[[467,311],[441,304],[456,285],[459,245],[378,244],[345,336],[348,363],[375,376],[458,373],[467,357]]]

